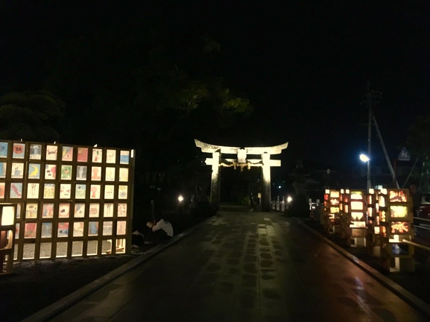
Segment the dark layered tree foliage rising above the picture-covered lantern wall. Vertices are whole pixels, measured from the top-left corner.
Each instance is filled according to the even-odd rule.
[[[0,137],[55,141],[64,103],[47,91],[12,92],[0,97]]]

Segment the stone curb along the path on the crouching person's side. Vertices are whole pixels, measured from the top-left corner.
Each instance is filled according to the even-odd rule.
[[[90,284],[85,285],[84,287],[76,290],[75,292],[63,297],[62,299],[46,306],[45,308],[41,309],[40,311],[37,311],[33,313],[32,315],[26,317],[25,319],[21,320],[21,322],[42,322],[46,321],[52,317],[54,317],[59,312],[64,311],[68,307],[75,304],[77,301],[81,300],[85,296],[91,294],[92,292],[98,290],[100,287],[106,285],[107,283],[111,282],[115,278],[119,277],[120,275],[126,273],[133,267],[147,261],[154,255],[160,253],[167,247],[176,244],[180,239],[187,236],[197,228],[199,228],[202,225],[205,225],[212,220],[215,220],[216,216],[209,217],[208,219],[198,223],[197,225],[194,225],[193,227],[177,234],[172,237],[168,242],[159,244],[142,255],[136,257],[135,259],[127,262],[124,265],[121,265],[120,267],[114,269],[113,271],[107,273],[106,275],[103,275],[102,277],[96,279],[95,281],[91,282]]]

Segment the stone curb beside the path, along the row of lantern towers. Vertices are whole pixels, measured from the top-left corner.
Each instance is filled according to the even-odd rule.
[[[370,265],[367,265],[363,261],[360,261],[358,258],[356,258],[351,253],[347,252],[340,246],[338,246],[336,243],[328,239],[327,237],[320,234],[315,229],[309,227],[308,225],[304,224],[303,220],[304,218],[298,218],[298,217],[291,217],[294,221],[296,221],[301,227],[304,227],[305,229],[309,230],[313,234],[319,236],[322,238],[330,247],[335,249],[338,253],[349,259],[351,262],[353,262],[355,265],[357,265],[359,268],[361,268],[363,271],[365,271],[367,274],[371,275],[374,279],[376,279],[379,283],[387,287],[390,291],[392,291],[394,294],[399,296],[401,299],[403,299],[405,302],[407,302],[409,305],[420,311],[421,313],[426,314],[427,316],[430,316],[430,305],[425,303],[423,300],[409,292],[408,290],[404,289],[397,283],[390,280],[388,277],[384,276],[380,272],[378,272],[376,269],[371,267]]]

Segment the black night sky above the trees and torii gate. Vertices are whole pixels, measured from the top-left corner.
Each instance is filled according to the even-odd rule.
[[[144,4],[141,4],[144,3]],[[430,97],[425,1],[3,1],[0,94],[38,89],[59,40],[132,18],[156,18],[221,44],[220,73],[254,114],[210,143],[289,147],[320,167],[359,164],[367,147],[367,82],[390,158]],[[85,104],[85,102],[82,102]],[[194,144],[188,142],[185,144]],[[375,157],[382,159],[377,138]]]

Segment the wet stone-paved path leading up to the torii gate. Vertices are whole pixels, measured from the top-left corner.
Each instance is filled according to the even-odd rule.
[[[293,219],[219,215],[51,320],[427,320]]]

